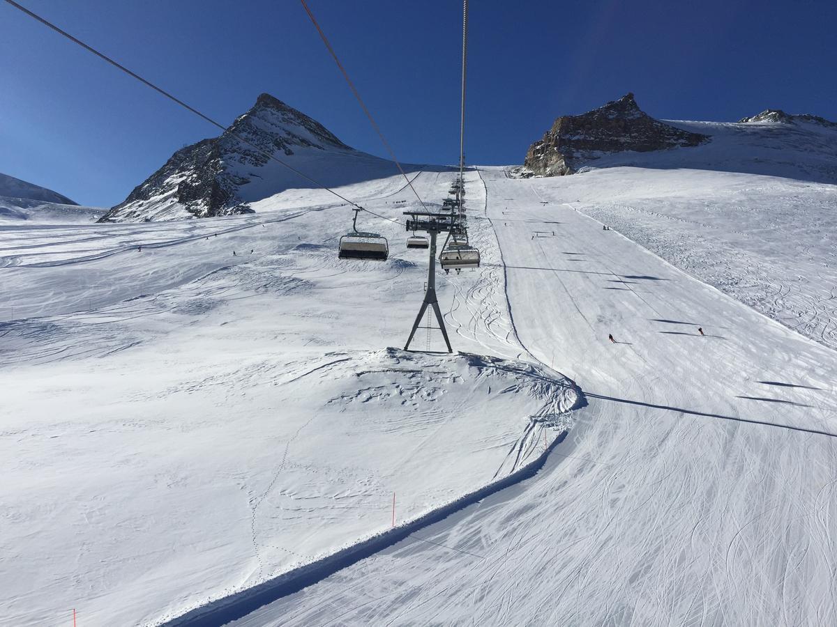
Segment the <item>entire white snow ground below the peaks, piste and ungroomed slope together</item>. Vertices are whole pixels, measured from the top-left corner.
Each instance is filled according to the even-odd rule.
[[[833,624],[834,236],[788,213],[828,224],[835,186],[681,152],[471,168],[450,356],[393,348],[426,253],[362,214],[390,259],[337,260],[351,212],[321,192],[0,229],[3,619]],[[437,205],[454,176],[408,174]],[[396,176],[347,187],[417,209]],[[763,280],[795,296],[742,295]]]

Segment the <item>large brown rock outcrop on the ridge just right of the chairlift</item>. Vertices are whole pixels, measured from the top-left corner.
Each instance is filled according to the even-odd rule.
[[[573,174],[608,153],[695,146],[708,139],[655,120],[639,109],[634,94],[626,94],[583,115],[562,115],[555,120],[543,138],[530,146],[523,173]]]

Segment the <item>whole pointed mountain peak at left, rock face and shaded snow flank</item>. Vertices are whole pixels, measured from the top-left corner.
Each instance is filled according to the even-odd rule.
[[[264,153],[326,186],[347,186],[398,173],[392,161],[354,150],[316,120],[270,94],[261,94],[219,137],[177,150],[125,201],[111,208],[102,222],[247,213],[253,211],[255,201],[281,191],[318,187]],[[417,170],[416,166],[406,168]]]

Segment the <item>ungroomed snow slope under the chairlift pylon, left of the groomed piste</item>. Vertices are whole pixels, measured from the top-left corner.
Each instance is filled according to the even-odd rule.
[[[451,180],[415,184],[441,201]],[[403,187],[352,190],[398,218]],[[508,477],[572,424],[573,385],[503,349],[496,242],[492,265],[439,281],[465,352],[408,354],[385,347],[425,254],[378,220],[391,259],[338,260],[349,224],[278,202],[0,231],[0,622],[172,618],[389,530],[393,493],[401,524]]]

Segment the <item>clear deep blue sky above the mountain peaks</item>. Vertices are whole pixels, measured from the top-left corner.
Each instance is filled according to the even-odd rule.
[[[295,0],[20,0],[229,124],[261,92],[385,155]],[[310,0],[399,159],[454,163],[461,3]],[[837,119],[837,2],[473,0],[466,159],[520,163],[557,115]],[[110,206],[207,123],[0,2],[0,172]]]

